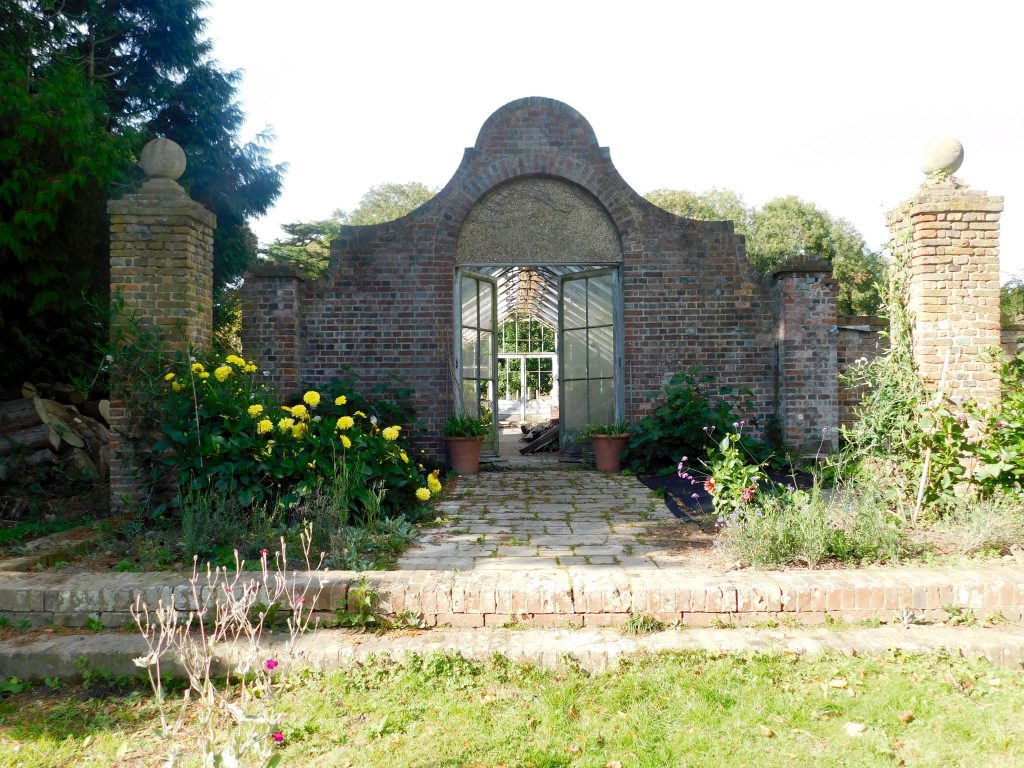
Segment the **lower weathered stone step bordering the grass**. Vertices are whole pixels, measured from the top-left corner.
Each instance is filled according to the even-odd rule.
[[[341,669],[371,655],[458,652],[487,659],[501,653],[513,662],[546,669],[575,665],[591,672],[615,666],[640,653],[708,651],[713,653],[797,653],[827,650],[842,653],[885,653],[890,650],[922,653],[945,650],[985,657],[993,664],[1020,669],[1024,663],[1024,633],[1020,627],[882,627],[835,631],[825,628],[687,629],[643,636],[626,636],[613,629],[435,629],[380,635],[343,630],[321,630],[300,639],[294,657],[287,657],[284,638],[268,637],[262,653],[289,665],[314,670]],[[220,669],[237,649],[221,646]],[[134,665],[146,647],[129,633],[97,632],[81,635],[19,637],[0,641],[0,678],[81,677],[83,668],[115,676],[135,676]],[[165,670],[175,671],[168,663]]]

